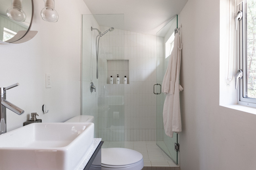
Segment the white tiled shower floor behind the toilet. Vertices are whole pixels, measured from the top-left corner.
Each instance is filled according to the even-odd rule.
[[[145,167],[179,167],[157,145],[155,141],[104,141],[102,148],[123,147],[140,152]]]

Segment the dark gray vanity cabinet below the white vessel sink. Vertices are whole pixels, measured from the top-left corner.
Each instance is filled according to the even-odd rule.
[[[84,167],[84,170],[101,170],[101,146],[103,143],[103,141],[99,143],[92,157]]]

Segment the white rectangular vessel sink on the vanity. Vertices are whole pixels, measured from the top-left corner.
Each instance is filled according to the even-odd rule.
[[[33,123],[0,135],[0,170],[74,170],[93,144],[93,123]]]

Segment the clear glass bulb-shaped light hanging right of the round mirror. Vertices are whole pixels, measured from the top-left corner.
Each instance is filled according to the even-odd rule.
[[[41,17],[48,22],[57,22],[59,15],[54,9],[54,0],[43,0],[45,2],[45,8],[41,10]]]

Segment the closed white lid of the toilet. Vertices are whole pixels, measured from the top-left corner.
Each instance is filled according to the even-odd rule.
[[[101,164],[110,166],[124,166],[142,160],[142,154],[127,148],[102,148]]]

